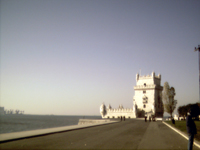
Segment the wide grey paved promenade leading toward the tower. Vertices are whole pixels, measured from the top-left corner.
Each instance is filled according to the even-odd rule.
[[[126,120],[1,143],[0,149],[187,149],[187,143],[162,122]]]

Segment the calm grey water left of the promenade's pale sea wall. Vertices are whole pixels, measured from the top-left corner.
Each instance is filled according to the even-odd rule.
[[[1,115],[0,134],[77,125],[79,119],[101,119],[101,116]]]

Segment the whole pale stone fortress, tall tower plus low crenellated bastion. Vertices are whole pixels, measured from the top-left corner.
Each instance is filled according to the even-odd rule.
[[[138,118],[138,117],[158,117],[162,118],[164,109],[161,98],[163,87],[161,84],[161,75],[140,76],[136,74],[136,86],[134,86],[135,96],[133,96],[133,107],[112,108],[110,105],[106,108],[105,104],[100,106],[102,118]]]

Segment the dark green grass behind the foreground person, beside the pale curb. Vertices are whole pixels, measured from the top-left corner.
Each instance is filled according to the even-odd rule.
[[[187,133],[186,121],[176,121],[175,125],[173,125],[171,121],[165,121],[165,122],[179,129],[180,131]],[[194,136],[194,138],[200,141],[200,121],[195,121],[195,124],[197,127],[197,134]]]

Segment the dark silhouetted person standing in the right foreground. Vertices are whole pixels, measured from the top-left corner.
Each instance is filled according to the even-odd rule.
[[[192,117],[193,117],[193,110],[191,109],[190,112],[188,112],[188,116],[186,118],[187,132],[189,135],[188,150],[192,150],[194,135],[197,134],[197,128],[194,123],[194,120],[192,120]]]

